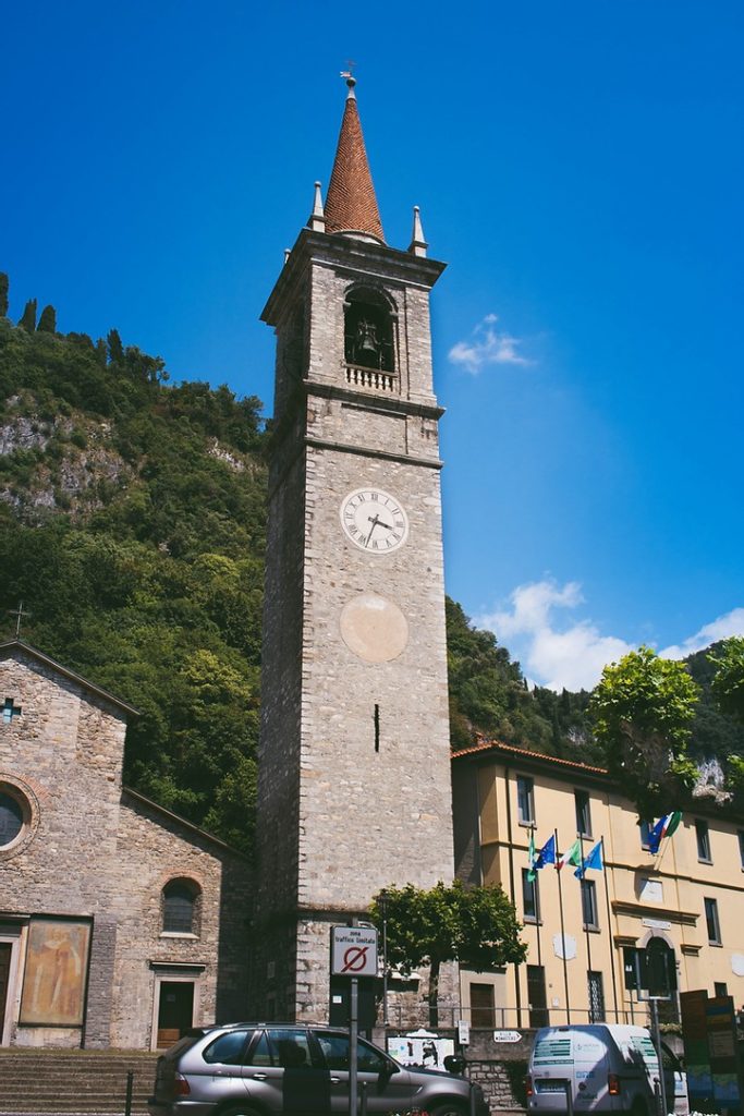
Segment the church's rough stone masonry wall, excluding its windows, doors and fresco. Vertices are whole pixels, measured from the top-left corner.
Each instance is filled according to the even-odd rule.
[[[13,1026],[10,1041],[149,1046],[157,962],[196,966],[200,1020],[214,1019],[221,1004],[242,1014],[252,893],[245,860],[139,796],[122,798],[118,705],[17,646],[0,660],[0,690],[21,708],[0,725],[0,785],[29,806],[22,836],[0,849],[3,920],[20,930],[21,956],[29,916],[91,926],[84,1027]],[[162,933],[163,886],[182,876],[202,892],[191,937]]]

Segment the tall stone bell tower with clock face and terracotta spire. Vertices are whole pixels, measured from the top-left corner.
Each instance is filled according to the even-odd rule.
[[[277,334],[252,1008],[328,1014],[330,925],[453,875],[438,420],[418,210],[385,243],[354,92]]]

